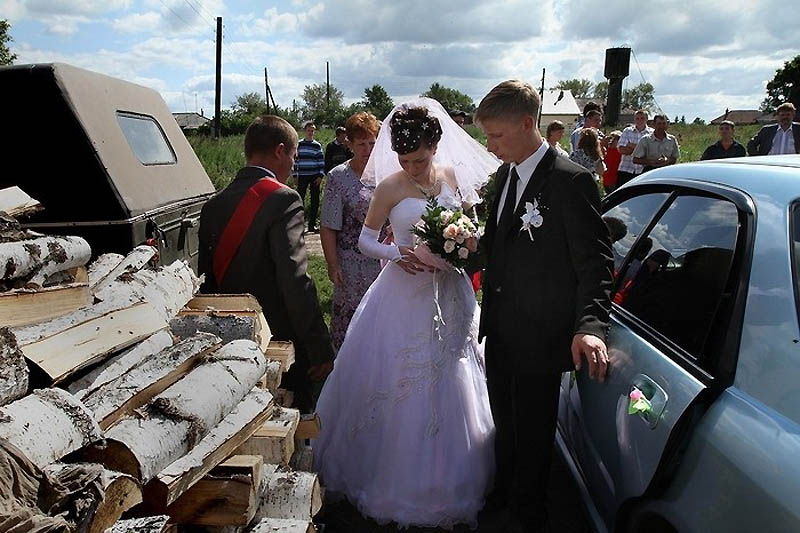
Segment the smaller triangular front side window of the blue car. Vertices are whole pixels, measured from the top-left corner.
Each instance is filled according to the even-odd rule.
[[[603,215],[603,221],[611,234],[615,276],[622,269],[622,263],[631,246],[664,204],[667,196],[669,193],[666,192],[634,196],[612,207]]]

